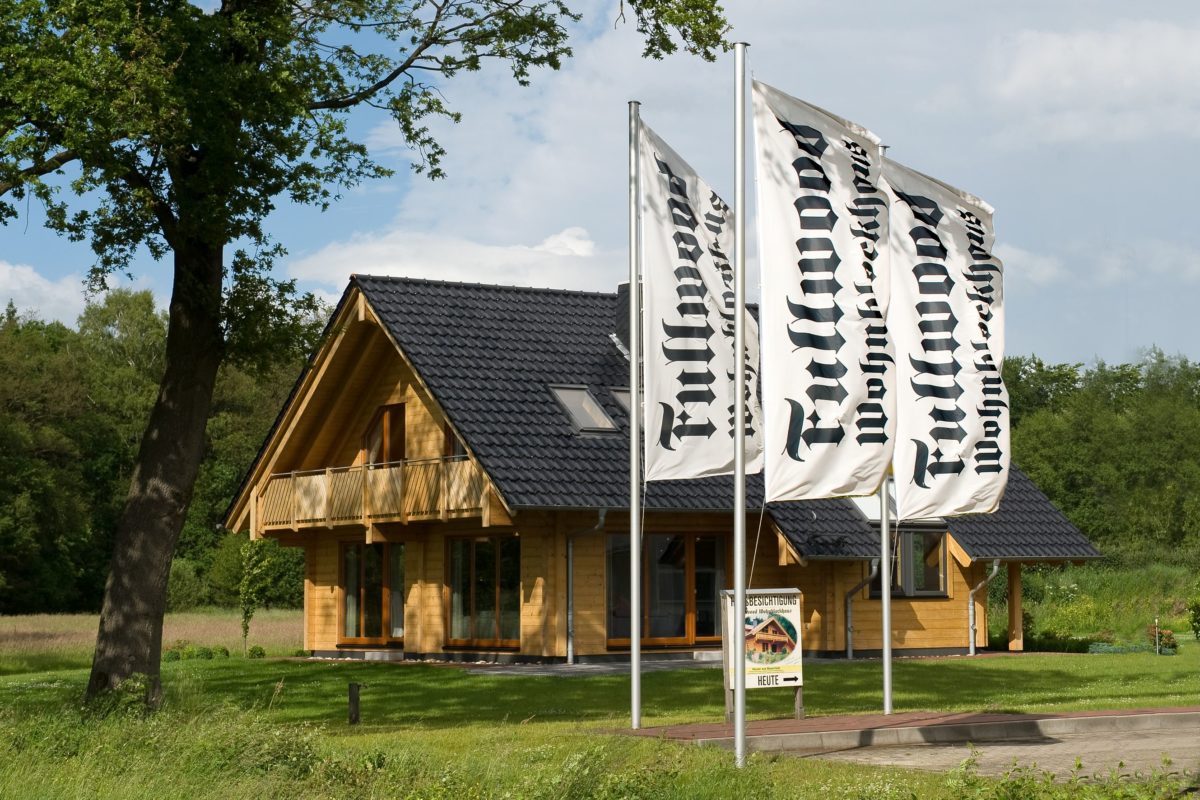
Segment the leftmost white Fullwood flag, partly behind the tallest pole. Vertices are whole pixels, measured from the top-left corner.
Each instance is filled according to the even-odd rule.
[[[762,469],[758,327],[733,302],[733,212],[646,125],[638,142],[646,480],[733,473],[733,320],[746,343],[746,473]]]

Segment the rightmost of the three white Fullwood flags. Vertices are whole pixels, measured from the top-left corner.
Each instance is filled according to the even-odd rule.
[[[1008,483],[1002,265],[992,209],[893,161],[899,519],[995,511]]]

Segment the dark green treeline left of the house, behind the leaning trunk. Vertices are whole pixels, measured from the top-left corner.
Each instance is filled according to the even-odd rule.
[[[8,303],[0,318],[0,614],[100,608],[166,336],[149,291],[109,291],[76,329]],[[236,604],[242,540],[220,523],[301,366],[287,356],[220,374],[172,567],[174,607]],[[299,604],[302,554],[272,551],[280,591],[268,603]]]

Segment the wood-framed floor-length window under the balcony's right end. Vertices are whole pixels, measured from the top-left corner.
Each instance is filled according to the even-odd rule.
[[[450,539],[451,646],[521,646],[521,540],[516,536]]]

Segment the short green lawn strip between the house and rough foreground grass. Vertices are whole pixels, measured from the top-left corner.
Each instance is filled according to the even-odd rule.
[[[1048,711],[1186,705],[1200,696],[1200,670],[1176,658],[1130,655],[1025,656],[896,661],[898,711]],[[0,705],[43,712],[78,705],[86,669],[0,679]],[[203,711],[233,705],[278,722],[346,724],[347,686],[362,685],[368,727],[443,729],[523,721],[623,729],[629,676],[529,676],[486,668],[422,663],[318,661],[186,661],[163,664],[168,708]],[[814,663],[805,670],[810,716],[878,714],[877,661]],[[787,691],[748,693],[751,718],[788,717]],[[719,722],[720,669],[680,669],[642,676],[643,724]]]

